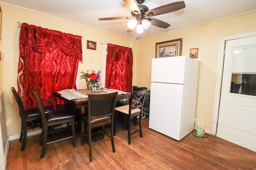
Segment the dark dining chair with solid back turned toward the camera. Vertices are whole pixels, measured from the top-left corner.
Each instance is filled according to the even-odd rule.
[[[92,162],[92,145],[111,139],[112,150],[116,152],[114,145],[114,111],[118,92],[106,94],[89,94],[88,95],[88,113],[81,116],[81,145],[84,145],[84,138],[87,137],[89,145],[89,157]],[[88,134],[85,134],[85,124],[88,127]],[[105,131],[105,125],[110,125],[110,135]],[[95,127],[102,129],[95,131]],[[92,133],[92,129],[94,131]],[[102,133],[102,139],[92,141],[92,135]],[[108,138],[104,139],[104,134]]]

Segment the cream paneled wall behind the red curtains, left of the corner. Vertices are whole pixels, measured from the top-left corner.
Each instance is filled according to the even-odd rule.
[[[100,42],[130,47],[132,48],[134,59],[136,59],[135,41],[130,39],[6,4],[0,4],[0,6],[2,8],[0,51],[2,51],[2,57],[4,57],[4,60],[0,61],[2,69],[0,76],[3,82],[1,83],[2,90],[0,95],[1,104],[4,103],[5,106],[5,110],[2,113],[6,113],[8,136],[19,134],[21,128],[18,106],[10,90],[11,86],[14,86],[17,90],[20,33],[18,21],[82,36],[83,63],[79,63],[78,66],[79,76],[82,70],[103,70],[103,45]],[[87,40],[97,42],[96,50],[86,49]],[[89,62],[90,58],[93,59],[93,63]],[[85,88],[84,80],[78,80],[78,86],[78,88]],[[2,98],[2,96],[4,97]]]

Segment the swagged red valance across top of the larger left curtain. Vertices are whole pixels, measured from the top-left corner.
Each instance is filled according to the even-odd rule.
[[[82,37],[51,29],[22,23],[20,30],[20,56],[28,55],[33,48],[37,53],[45,53],[55,43],[68,56],[82,62]]]

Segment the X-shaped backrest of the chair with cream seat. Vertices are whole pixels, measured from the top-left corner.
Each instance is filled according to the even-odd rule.
[[[143,110],[146,91],[147,89],[141,91],[132,91],[130,97],[129,114],[131,114],[132,109],[139,108],[141,111]]]

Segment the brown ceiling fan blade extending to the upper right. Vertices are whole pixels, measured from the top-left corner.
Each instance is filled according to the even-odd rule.
[[[180,10],[182,8],[185,8],[185,3],[184,1],[178,1],[178,2],[173,2],[170,4],[166,4],[163,6],[159,6],[157,8],[154,8],[152,10],[149,10],[146,12],[146,14],[150,14],[152,13],[152,15],[148,15],[148,16],[157,16],[157,15],[161,15],[161,14],[166,14],[169,12],[174,12],[177,10]]]

